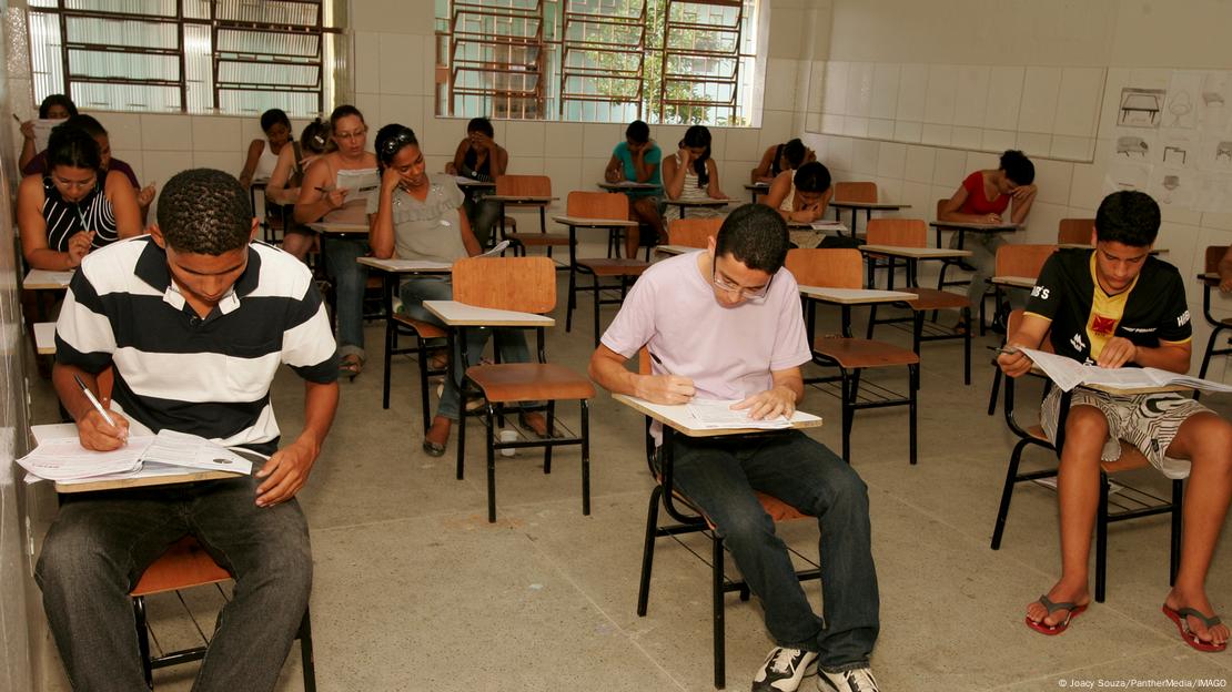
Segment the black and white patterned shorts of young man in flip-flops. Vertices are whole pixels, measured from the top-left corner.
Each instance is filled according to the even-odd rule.
[[[1115,395],[1092,389],[1074,389],[1069,408],[1095,406],[1108,419],[1109,437],[1100,458],[1115,462],[1121,457],[1121,441],[1137,447],[1168,478],[1189,475],[1189,462],[1164,456],[1180,425],[1189,416],[1210,411],[1202,404],[1175,393]],[[1053,387],[1044,399],[1040,422],[1050,441],[1057,438],[1061,412],[1061,388]]]

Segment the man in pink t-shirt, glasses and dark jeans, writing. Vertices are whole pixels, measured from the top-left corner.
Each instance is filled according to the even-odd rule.
[[[740,399],[737,408],[753,417],[790,416],[804,393],[800,366],[812,353],[786,256],[779,214],[764,204],[736,209],[707,250],[664,260],[637,280],[590,357],[590,376],[658,404]],[[643,346],[659,361],[650,376],[625,368]],[[723,534],[777,644],[753,688],[793,691],[817,661],[818,690],[876,692],[869,655],[880,627],[877,575],[867,490],[855,470],[800,431],[744,441],[676,436],[674,459],[676,485]],[[823,528],[823,617],[754,490]]]

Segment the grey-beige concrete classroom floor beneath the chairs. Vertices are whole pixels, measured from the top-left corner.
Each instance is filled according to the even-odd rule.
[[[561,309],[562,321],[548,340],[552,361],[582,372],[591,347],[589,300],[583,304],[580,331],[564,332]],[[888,329],[878,335],[907,342]],[[319,688],[711,690],[707,565],[680,544],[660,541],[649,613],[639,618],[634,612],[652,488],[641,419],[606,393],[594,401],[591,516],[580,512],[575,451],[558,453],[551,475],[542,473],[538,454],[521,451],[498,463],[498,521],[489,525],[479,426],[471,426],[467,478],[458,481],[452,441],[440,459],[420,451],[414,362],[394,361],[394,400],[382,410],[382,328],[370,326],[367,340],[373,360],[354,383],[342,382],[334,430],[301,493],[314,543]],[[1135,681],[1149,688],[1141,681],[1161,678],[1226,686],[1232,654],[1194,651],[1159,612],[1168,590],[1164,517],[1112,527],[1106,603],[1062,637],[1024,627],[1025,605],[1060,573],[1056,497],[1020,485],[1003,548],[989,549],[1013,445],[999,412],[984,414],[992,380],[984,346],[994,344],[993,336],[976,339],[970,387],[961,384],[961,342],[925,345],[917,467],[907,463],[903,409],[860,412],[855,420],[853,463],[870,488],[882,596],[873,655],[882,690],[1031,691],[1135,687]],[[904,377],[877,380],[906,383]],[[54,406],[47,383],[39,388],[36,411],[46,420]],[[293,437],[302,425],[302,387],[290,371],[280,374],[275,400],[285,435]],[[1230,398],[1209,401],[1232,412]],[[802,408],[827,419],[813,435],[838,449],[838,401],[811,392]],[[575,411],[563,411],[570,426]],[[1042,453],[1027,458],[1052,461]],[[1133,481],[1167,493],[1157,474],[1138,473]],[[814,526],[795,522],[781,532],[816,557]],[[685,543],[708,544],[696,536]],[[1232,616],[1228,541],[1210,574],[1216,607]],[[819,600],[816,582],[808,591]],[[185,597],[208,632],[218,593],[198,589]],[[174,596],[155,598],[150,608],[165,646],[196,635]],[[727,687],[747,690],[771,646],[756,601],[731,595]],[[65,690],[55,654],[46,649],[47,670],[57,680],[44,690]],[[195,667],[161,671],[156,688],[187,690]],[[278,688],[301,686],[293,651]],[[812,690],[812,681],[802,690]]]

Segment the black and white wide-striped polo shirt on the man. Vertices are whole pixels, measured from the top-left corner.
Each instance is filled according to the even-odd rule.
[[[55,325],[55,360],[115,366],[112,408],[143,428],[200,435],[271,454],[270,384],[280,363],[315,383],[338,379],[334,336],[303,262],[266,245],[205,319],[171,281],[166,252],[143,235],[86,255]]]

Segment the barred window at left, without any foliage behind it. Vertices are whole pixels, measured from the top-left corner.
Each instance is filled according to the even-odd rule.
[[[331,0],[30,0],[34,100],[293,117],[331,103],[346,46]]]

